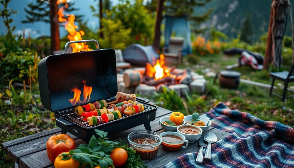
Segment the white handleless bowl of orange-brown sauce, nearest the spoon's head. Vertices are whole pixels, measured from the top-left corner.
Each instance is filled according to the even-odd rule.
[[[189,143],[194,143],[202,135],[202,129],[196,125],[180,125],[177,127],[177,132],[186,137]]]

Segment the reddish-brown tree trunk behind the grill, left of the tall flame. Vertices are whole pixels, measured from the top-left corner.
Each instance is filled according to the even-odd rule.
[[[53,51],[60,50],[58,5],[56,1],[50,1],[51,54],[53,54]]]

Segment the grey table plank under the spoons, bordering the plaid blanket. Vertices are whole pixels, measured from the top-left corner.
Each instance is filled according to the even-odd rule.
[[[208,132],[215,133],[216,136],[218,137],[218,140],[220,140],[230,134],[228,132],[224,132],[224,131],[221,131],[216,128],[211,129]],[[182,149],[175,151],[175,152],[167,151],[160,146],[160,148],[159,148],[160,152],[157,154],[157,157],[152,160],[146,161],[145,164],[148,165],[148,167],[152,167],[152,168],[153,167],[163,167],[171,160],[176,159],[177,157],[182,156],[183,154],[186,154],[189,152],[198,152],[199,151],[198,142],[199,142],[199,140],[197,140],[193,144],[189,144],[186,149],[182,148]]]

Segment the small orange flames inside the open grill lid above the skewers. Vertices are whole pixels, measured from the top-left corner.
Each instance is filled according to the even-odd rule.
[[[74,98],[69,99],[69,102],[74,106],[77,103],[88,103],[91,97],[92,93],[92,87],[86,85],[86,81],[83,81],[84,89],[83,89],[83,102],[80,100],[81,96],[81,90],[75,87],[74,89],[71,89],[71,92],[74,92]]]

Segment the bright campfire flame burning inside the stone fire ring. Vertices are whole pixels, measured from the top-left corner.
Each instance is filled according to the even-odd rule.
[[[149,77],[154,77],[155,80],[170,76],[170,71],[165,66],[164,55],[160,55],[160,59],[156,60],[156,64],[152,66],[151,64],[146,64],[146,75]]]

